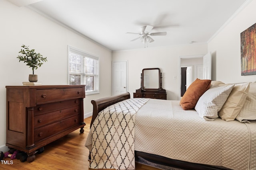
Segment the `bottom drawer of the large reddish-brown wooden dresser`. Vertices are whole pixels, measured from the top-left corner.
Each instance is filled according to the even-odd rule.
[[[41,141],[79,123],[79,115],[34,129],[34,142]]]

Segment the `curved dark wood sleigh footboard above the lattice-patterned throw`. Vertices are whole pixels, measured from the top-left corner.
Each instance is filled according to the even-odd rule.
[[[93,105],[93,111],[92,111],[92,121],[90,124],[90,128],[92,127],[92,123],[94,122],[94,120],[96,119],[100,111],[102,111],[108,106],[111,106],[112,104],[116,104],[117,102],[121,102],[126,99],[130,99],[129,92],[98,99],[98,100],[92,100],[91,103]]]

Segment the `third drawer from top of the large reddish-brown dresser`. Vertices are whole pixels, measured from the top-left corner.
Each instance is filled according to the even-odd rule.
[[[52,123],[56,120],[61,120],[72,115],[77,115],[78,113],[80,113],[79,106],[75,106],[67,109],[61,109],[58,111],[34,116],[34,127],[40,127]]]

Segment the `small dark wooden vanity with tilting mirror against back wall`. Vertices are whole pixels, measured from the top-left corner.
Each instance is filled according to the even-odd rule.
[[[144,68],[140,74],[140,88],[133,98],[152,98],[166,100],[166,90],[162,88],[160,68]]]

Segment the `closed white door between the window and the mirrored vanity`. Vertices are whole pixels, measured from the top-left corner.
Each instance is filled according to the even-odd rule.
[[[127,92],[127,61],[113,61],[112,74],[112,94],[116,95]]]

